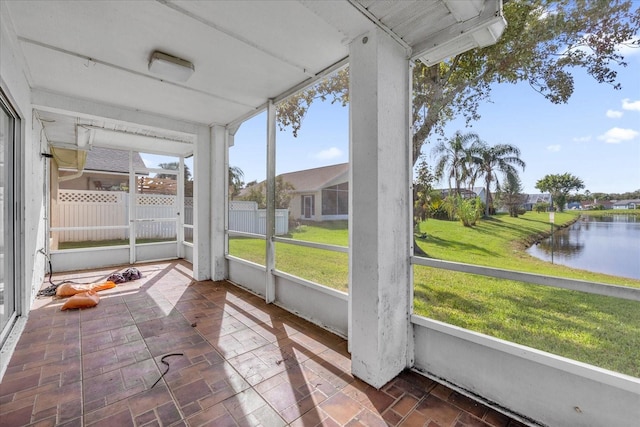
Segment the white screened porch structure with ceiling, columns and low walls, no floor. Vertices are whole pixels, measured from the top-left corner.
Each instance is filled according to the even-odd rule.
[[[176,240],[138,245],[139,258],[129,241],[109,249],[118,252],[113,258],[86,262],[185,258],[196,281],[230,280],[347,338],[352,374],[375,388],[412,368],[533,423],[581,424],[582,411],[586,425],[633,419],[617,410],[639,407],[633,378],[413,313],[412,268],[427,261],[412,252],[411,65],[495,43],[507,24],[501,7],[500,0],[0,2],[2,99],[21,129],[12,167],[25,237],[14,239],[24,262],[6,268],[18,296],[3,340],[19,336],[46,271],[51,147],[124,149],[128,191],[137,174],[175,176],[176,212],[183,170],[137,169],[133,152],[179,164],[192,156],[192,224],[173,218]],[[279,102],[347,64],[348,245],[314,247],[347,254],[348,292],[341,292],[276,268],[276,243],[292,243],[275,235],[275,129]],[[242,124],[264,112],[266,231],[238,235],[264,241],[260,265],[229,254],[228,156]],[[192,241],[180,237],[187,228]],[[175,252],[163,252],[169,245]],[[83,253],[59,251],[54,264],[69,265],[66,254],[78,263]]]

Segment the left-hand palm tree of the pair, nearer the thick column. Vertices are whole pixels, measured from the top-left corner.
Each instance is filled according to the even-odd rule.
[[[446,173],[449,192],[451,179],[455,184],[455,192],[459,195],[462,183],[472,176],[470,148],[478,144],[481,141],[477,134],[457,131],[452,138],[439,141],[431,150],[431,155],[437,158],[435,176],[441,179]]]

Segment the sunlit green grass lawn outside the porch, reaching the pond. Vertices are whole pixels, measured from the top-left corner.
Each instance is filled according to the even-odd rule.
[[[556,212],[555,223],[571,223],[579,213]],[[476,227],[428,220],[420,224],[427,237],[417,243],[436,259],[640,287],[640,280],[576,270],[528,255],[527,245],[550,228],[549,214],[535,212],[518,218],[496,215]],[[348,243],[346,223],[305,225],[291,237]],[[264,265],[264,241],[234,238],[229,246],[232,254]],[[281,271],[347,290],[346,254],[277,243],[276,257]],[[422,266],[414,267],[414,286],[416,314],[640,377],[638,302]]]

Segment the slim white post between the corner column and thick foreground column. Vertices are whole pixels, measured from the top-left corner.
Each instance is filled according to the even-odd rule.
[[[266,290],[265,301],[276,299],[276,283],[273,270],[276,268],[276,251],[273,236],[276,233],[276,107],[269,100],[267,105],[267,223],[266,223]]]

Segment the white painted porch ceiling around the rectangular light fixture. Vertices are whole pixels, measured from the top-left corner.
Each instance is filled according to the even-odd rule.
[[[408,57],[432,63],[495,42],[505,24],[500,0],[2,3],[21,53],[16,60],[24,62],[52,142],[81,145],[78,125],[102,127],[165,139],[164,151],[182,155],[192,142],[189,135],[142,128],[125,117],[110,122],[79,114],[80,107],[68,111],[37,100],[62,95],[226,125],[346,64],[349,43],[372,25],[402,44]],[[195,72],[184,83],[150,72],[156,50],[193,63]]]

